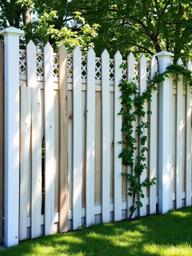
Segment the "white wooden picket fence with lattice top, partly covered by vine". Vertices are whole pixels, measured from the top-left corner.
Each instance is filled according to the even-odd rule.
[[[9,39],[12,36],[10,33]],[[78,47],[72,55],[64,46],[54,53],[49,43],[39,52],[32,41],[26,50],[15,50],[19,54],[12,61],[19,70],[15,87],[20,87],[20,168],[7,181],[20,175],[20,190],[14,191],[19,197],[11,199],[14,204],[7,203],[18,225],[12,226],[12,233],[9,223],[5,225],[8,231],[4,243],[9,246],[18,240],[75,230],[84,224],[89,227],[127,219],[132,199],[127,195],[129,183],[121,173],[130,169],[122,166],[118,158],[122,151],[117,143],[122,140],[118,85],[122,77],[130,82],[135,78],[138,94],[142,94],[155,72],[161,73],[169,65],[171,53],[158,53],[157,65],[155,56],[149,63],[144,54],[139,62],[132,53],[122,60],[119,51],[114,59],[107,50],[101,58],[95,57],[92,48],[86,56]],[[5,60],[6,54],[5,50]],[[120,68],[122,63],[127,64],[127,69]],[[178,63],[182,64],[181,59]],[[191,69],[190,61],[187,69]],[[148,169],[140,181],[158,177],[158,184],[143,189],[143,207],[137,208],[133,217],[154,214],[156,206],[158,212],[165,213],[191,205],[191,89],[185,79],[177,81],[172,75],[157,86],[152,102],[144,105],[152,116],[146,117],[146,145],[150,150],[146,154]],[[11,97],[13,100],[15,96]],[[138,124],[136,120],[135,128]],[[18,183],[17,179],[14,182]],[[6,189],[5,183],[5,195]],[[11,216],[5,214],[5,218]],[[15,238],[17,232],[19,237]]]

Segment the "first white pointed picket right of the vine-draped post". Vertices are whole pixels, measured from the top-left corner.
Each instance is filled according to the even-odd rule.
[[[183,65],[181,58],[178,65]],[[176,87],[176,209],[182,207],[182,130],[183,130],[183,76],[179,76]]]

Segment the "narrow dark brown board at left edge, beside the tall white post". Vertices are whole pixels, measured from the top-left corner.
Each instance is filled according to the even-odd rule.
[[[3,172],[4,172],[4,108],[3,108],[3,42],[0,40],[0,243],[3,242]]]

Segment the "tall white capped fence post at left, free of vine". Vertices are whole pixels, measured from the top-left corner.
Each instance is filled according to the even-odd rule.
[[[9,27],[4,37],[4,244],[18,244],[19,237],[19,36]]]

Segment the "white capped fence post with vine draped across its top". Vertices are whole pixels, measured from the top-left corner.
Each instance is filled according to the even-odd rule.
[[[162,74],[170,65],[170,57],[174,54],[161,51],[155,54],[158,57],[159,74]],[[169,108],[170,108],[170,81],[169,74],[159,83],[159,139],[158,139],[158,212],[169,211]]]

